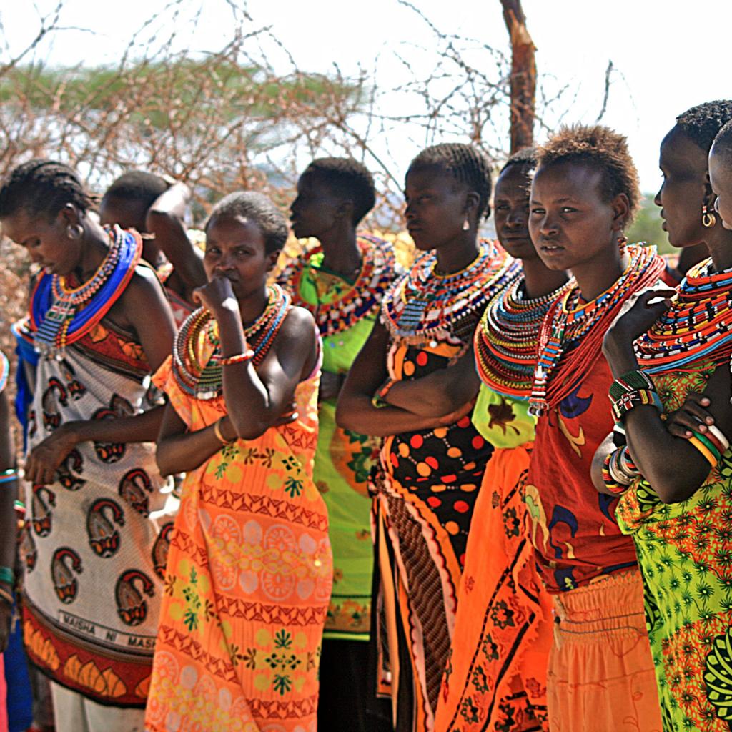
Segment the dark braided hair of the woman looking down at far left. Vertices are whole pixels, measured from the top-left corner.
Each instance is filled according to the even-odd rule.
[[[53,160],[29,160],[14,168],[0,187],[0,219],[20,211],[52,221],[67,204],[86,212],[96,203],[78,173]]]

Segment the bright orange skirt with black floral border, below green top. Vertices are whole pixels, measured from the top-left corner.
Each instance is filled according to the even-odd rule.
[[[496,449],[468,536],[436,732],[547,728],[552,601],[537,575],[523,484],[532,443]]]

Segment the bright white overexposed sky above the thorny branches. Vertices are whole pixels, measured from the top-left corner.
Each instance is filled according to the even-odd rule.
[[[58,2],[17,2],[12,10],[7,8],[9,0],[0,2],[7,43],[7,48],[0,48],[0,63],[32,39],[39,15],[51,12]],[[415,0],[415,4],[444,33],[463,34],[509,53],[498,0]],[[203,12],[191,20],[201,8]],[[594,122],[602,107],[605,69],[613,61],[602,122],[627,135],[646,192],[653,193],[660,185],[658,148],[674,118],[700,102],[732,97],[729,0],[710,0],[703,10],[687,0],[523,0],[523,8],[544,86],[568,87],[566,101],[553,109],[550,124],[560,117],[564,122]],[[398,0],[250,0],[247,10],[253,27],[271,25],[272,33],[305,71],[332,72],[337,63],[346,74],[362,67],[376,74],[379,85],[393,85],[404,74],[397,53],[414,59],[418,74],[430,69],[429,51],[414,47],[434,48],[433,34],[414,10]],[[47,37],[37,53],[61,65],[114,61],[152,12],[160,12],[152,29],[159,28],[160,34],[179,29],[176,42],[201,52],[221,48],[234,27],[227,0],[187,0],[179,15],[172,12],[171,0],[119,4],[65,0],[61,25],[67,30]],[[268,55],[287,70],[284,53],[272,49]],[[394,135],[389,154],[404,170],[418,149],[412,138]],[[544,136],[539,131],[537,141]],[[507,146],[502,141],[496,144]]]

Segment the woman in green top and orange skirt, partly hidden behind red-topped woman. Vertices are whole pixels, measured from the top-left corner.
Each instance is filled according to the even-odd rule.
[[[571,286],[541,261],[529,237],[537,151],[509,157],[496,181],[498,241],[521,275],[488,303],[475,332],[480,392],[472,422],[493,445],[475,504],[438,732],[546,729],[551,601],[526,534],[523,481],[536,418],[529,394],[537,339],[550,305]],[[509,609],[510,608],[510,609]],[[511,622],[507,614],[512,613]]]

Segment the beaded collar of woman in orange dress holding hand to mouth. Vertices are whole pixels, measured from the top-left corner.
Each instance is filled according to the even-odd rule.
[[[247,347],[254,351],[252,362],[255,366],[261,364],[269,352],[290,309],[290,296],[279,285],[269,285],[268,290],[264,313],[244,329]],[[213,315],[201,307],[185,319],[173,344],[173,376],[178,386],[196,399],[215,399],[223,392],[218,330]],[[206,363],[199,360],[199,354],[204,350],[201,348],[203,339],[213,347]]]

